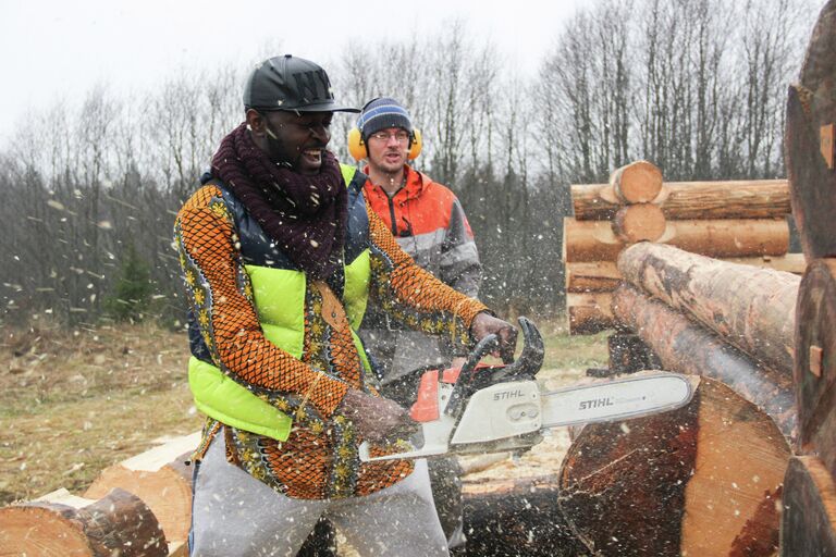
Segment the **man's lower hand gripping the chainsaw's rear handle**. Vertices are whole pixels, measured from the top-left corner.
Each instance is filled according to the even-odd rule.
[[[394,400],[380,398],[349,388],[342,403],[343,416],[354,422],[357,433],[366,441],[408,440],[420,425],[409,412]]]

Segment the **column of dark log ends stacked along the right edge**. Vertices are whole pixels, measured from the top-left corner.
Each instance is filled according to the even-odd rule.
[[[796,307],[796,456],[780,555],[836,555],[836,1],[822,9],[789,87],[785,162],[808,265]]]

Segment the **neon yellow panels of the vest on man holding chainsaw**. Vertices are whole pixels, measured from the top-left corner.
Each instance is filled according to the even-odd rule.
[[[344,164],[341,164],[341,170],[345,183],[349,184],[356,170]],[[365,206],[360,209],[365,211]],[[302,358],[305,337],[305,273],[259,265],[245,265],[245,270],[253,284],[253,297],[265,338],[294,358]],[[369,249],[364,249],[344,270],[345,312],[352,324],[357,352],[364,368],[369,371],[366,352],[355,333],[368,302],[371,278]],[[188,386],[195,398],[195,407],[214,420],[279,441],[285,441],[291,434],[293,419],[290,416],[236,383],[216,366],[194,356],[188,361]]]

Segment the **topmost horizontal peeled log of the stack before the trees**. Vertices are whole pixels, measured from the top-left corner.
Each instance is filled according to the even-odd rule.
[[[575,218],[610,221],[622,207],[606,185],[573,185]],[[786,180],[665,182],[649,202],[665,219],[779,219],[791,212]]]

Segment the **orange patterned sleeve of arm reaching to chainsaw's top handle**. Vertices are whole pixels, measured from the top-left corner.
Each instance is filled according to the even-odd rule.
[[[488,308],[418,267],[367,201],[371,244],[370,295],[391,318],[416,331],[442,335],[455,346],[471,343],[470,323]]]

